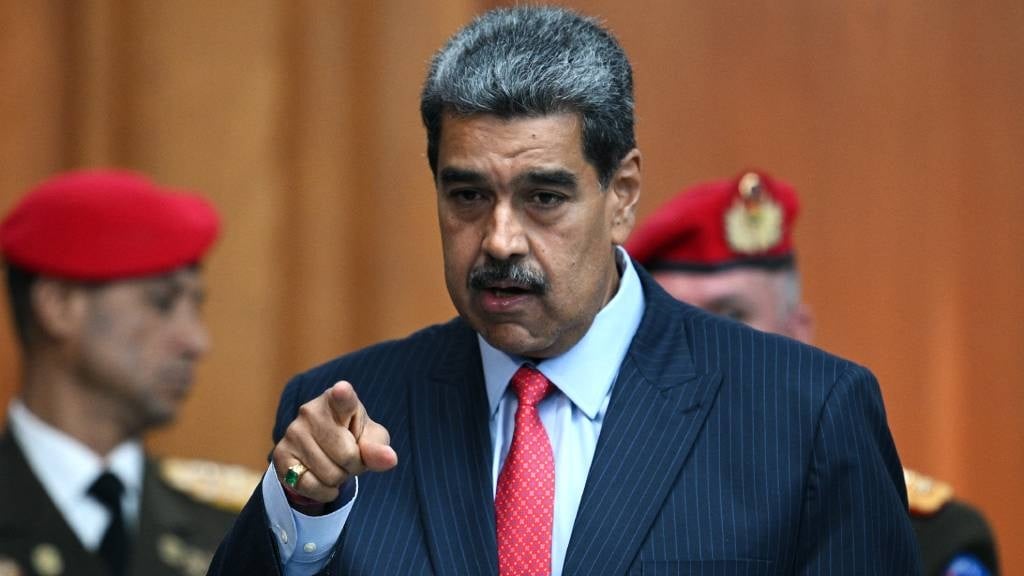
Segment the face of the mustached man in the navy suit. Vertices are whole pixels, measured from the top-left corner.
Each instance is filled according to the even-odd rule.
[[[437,214],[459,314],[508,354],[572,347],[617,289],[612,245],[633,228],[639,166],[633,151],[602,190],[574,114],[445,116]]]

